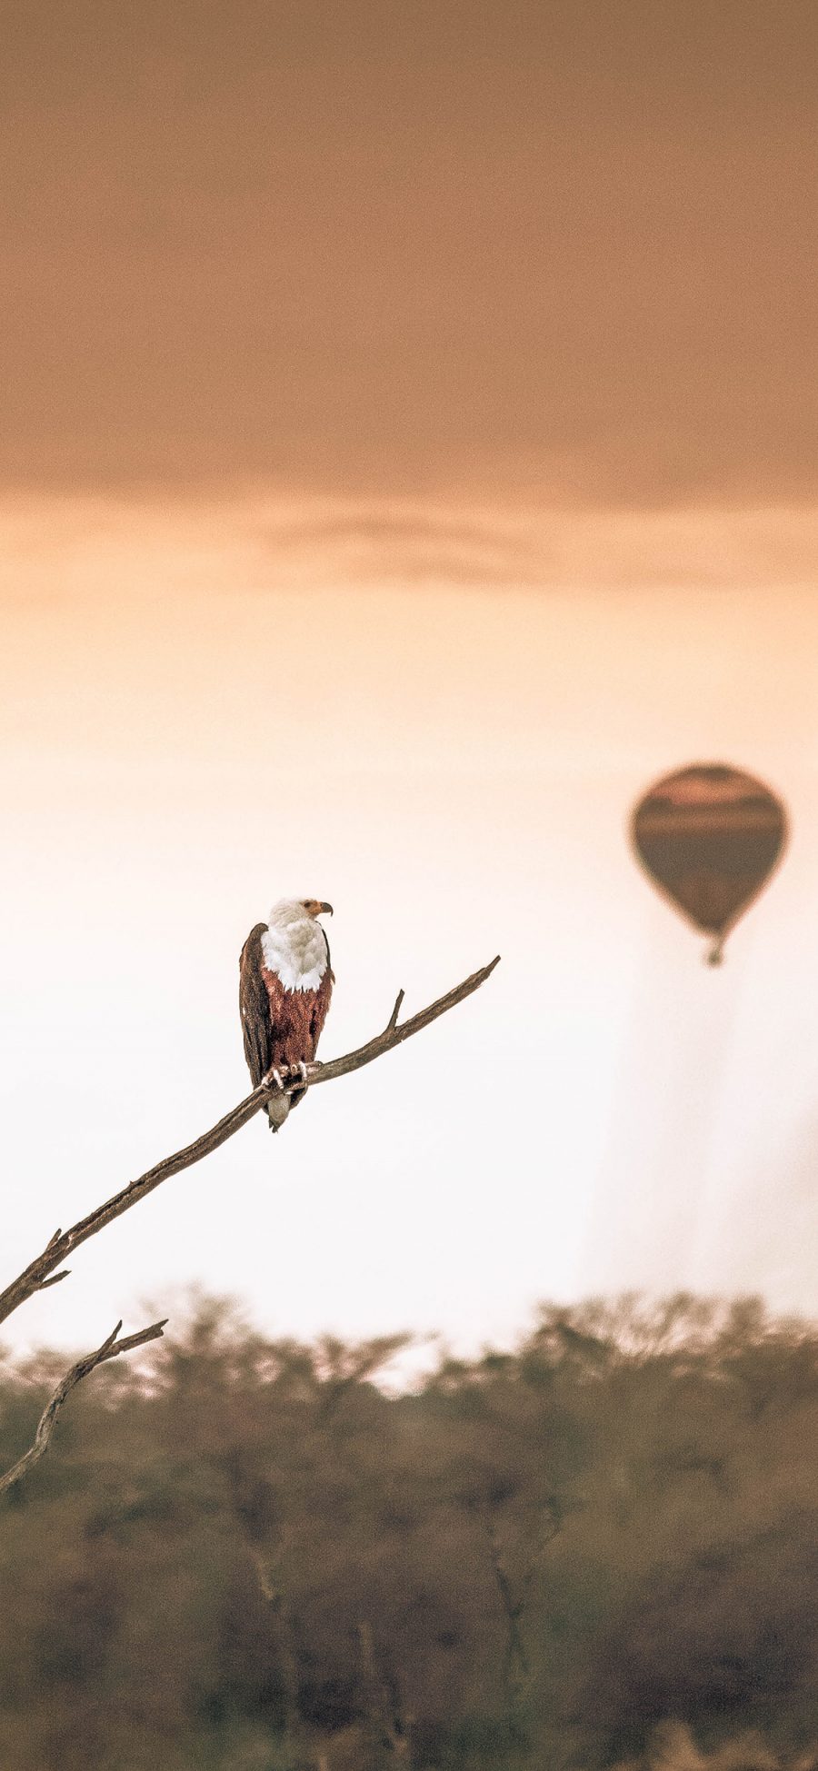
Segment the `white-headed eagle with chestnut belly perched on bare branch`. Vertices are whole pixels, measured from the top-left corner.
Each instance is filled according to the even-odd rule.
[[[306,1077],[326,1022],[333,994],[329,942],[317,921],[331,916],[331,903],[320,898],[280,898],[269,923],[257,923],[239,960],[239,1008],[244,1057],[253,1087],[267,1073],[278,1094],[267,1100],[273,1132],[287,1119],[290,1107],[306,1089],[283,1093],[285,1071]]]

